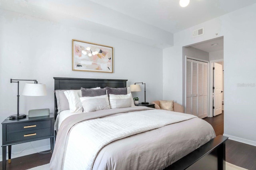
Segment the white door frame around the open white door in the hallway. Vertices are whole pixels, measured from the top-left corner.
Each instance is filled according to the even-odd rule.
[[[213,97],[213,93],[212,93],[212,87],[213,87],[213,82],[212,82],[213,71],[212,71],[212,68],[213,68],[213,63],[217,63],[217,62],[221,62],[221,61],[223,61],[223,63],[224,63],[224,59],[218,59],[218,60],[211,60],[210,64],[209,64],[209,68],[210,68],[209,69],[209,79],[210,79],[210,81],[209,81],[209,90],[208,90],[208,92],[209,92],[208,101],[212,101],[212,97]],[[208,117],[213,117],[212,102],[209,102],[208,104],[209,104],[208,105],[209,106],[209,108],[208,108],[209,116]]]

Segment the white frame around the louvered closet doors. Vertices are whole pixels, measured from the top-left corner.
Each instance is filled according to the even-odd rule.
[[[210,69],[210,61],[207,61],[207,60],[203,60],[203,59],[198,59],[198,58],[196,58],[196,57],[191,57],[191,56],[188,56],[188,55],[185,55],[185,113],[187,112],[187,108],[186,108],[186,106],[187,106],[187,100],[186,100],[186,98],[187,98],[187,59],[191,59],[191,60],[196,60],[196,61],[202,61],[202,62],[205,62],[205,63],[208,63],[208,95],[210,94],[210,86],[209,86],[209,84],[210,84],[210,82],[209,82],[209,78],[210,78],[210,72],[209,72],[209,69]],[[209,99],[210,99],[210,96],[208,96],[208,100],[207,100],[207,104],[208,104],[208,106],[210,105],[209,104]],[[209,109],[210,107],[208,107],[208,113],[207,113],[207,116],[209,117],[209,112],[210,112],[210,109]]]

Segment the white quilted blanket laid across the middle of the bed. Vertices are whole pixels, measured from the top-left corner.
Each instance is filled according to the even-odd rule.
[[[84,121],[70,132],[64,169],[91,170],[100,149],[112,141],[194,117],[175,112],[170,114],[166,110],[146,110]],[[72,162],[77,163],[73,165]]]

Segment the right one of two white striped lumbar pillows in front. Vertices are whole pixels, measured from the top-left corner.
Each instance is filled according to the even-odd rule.
[[[109,94],[109,103],[111,109],[117,109],[117,108],[124,108],[124,107],[131,107],[132,101],[131,101],[131,93],[129,94]]]

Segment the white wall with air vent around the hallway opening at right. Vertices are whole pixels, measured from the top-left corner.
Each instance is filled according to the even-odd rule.
[[[253,4],[175,33],[174,46],[163,51],[163,90],[182,101],[182,47],[224,36],[224,134],[251,145],[256,145],[256,87],[237,84],[256,83],[255,11]],[[192,38],[201,27],[204,35]]]

